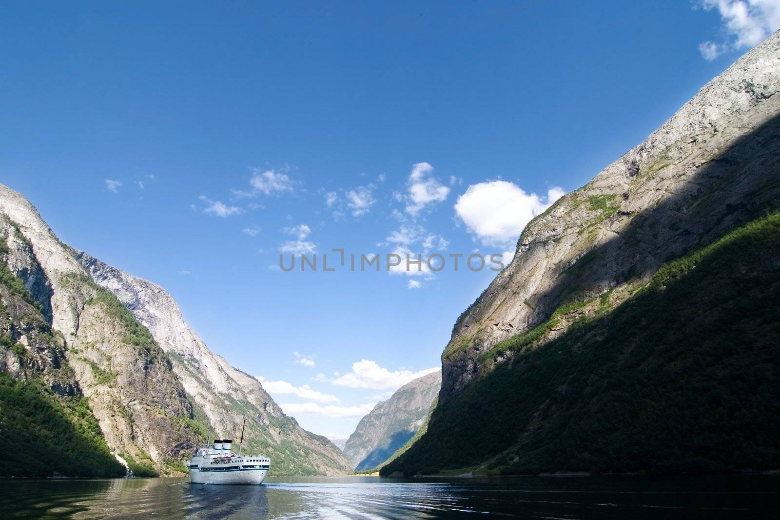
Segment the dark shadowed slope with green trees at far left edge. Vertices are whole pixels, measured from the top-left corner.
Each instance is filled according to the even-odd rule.
[[[6,267],[0,240],[0,474],[121,476],[41,305]]]

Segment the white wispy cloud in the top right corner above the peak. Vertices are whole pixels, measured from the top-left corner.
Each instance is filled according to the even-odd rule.
[[[717,9],[723,21],[723,29],[733,37],[726,45],[705,41],[699,45],[704,59],[713,60],[728,50],[753,47],[780,28],[780,2],[778,0],[700,0],[706,11]]]

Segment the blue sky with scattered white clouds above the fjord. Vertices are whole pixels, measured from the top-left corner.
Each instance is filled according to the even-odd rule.
[[[775,0],[740,5],[4,3],[0,182],[346,436],[440,364],[495,272],[282,272],[279,251],[511,251],[777,28]]]

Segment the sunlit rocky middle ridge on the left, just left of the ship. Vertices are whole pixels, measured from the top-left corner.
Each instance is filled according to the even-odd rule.
[[[112,294],[90,280],[27,199],[0,185],[0,212],[5,269],[40,305],[54,338],[49,351],[62,351],[108,447],[140,472],[179,468],[176,460],[198,435],[168,357]],[[12,336],[20,336],[14,326]],[[37,364],[38,379],[51,381],[57,361]],[[54,385],[50,390],[56,393]]]

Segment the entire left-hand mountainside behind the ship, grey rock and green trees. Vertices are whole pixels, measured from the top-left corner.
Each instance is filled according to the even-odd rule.
[[[95,451],[72,472],[53,465],[32,474],[123,474],[112,457],[98,460],[109,452],[136,475],[181,473],[210,431],[237,436],[244,416],[246,447],[271,457],[275,474],[349,472],[330,441],[301,429],[257,379],[209,351],[161,287],[63,244],[2,185],[0,213],[0,427],[29,441],[20,454],[44,461],[64,449],[52,444],[52,429]],[[51,408],[23,433],[11,411],[31,414],[34,404],[20,396]],[[3,465],[4,475],[23,474]]]

